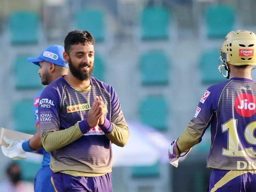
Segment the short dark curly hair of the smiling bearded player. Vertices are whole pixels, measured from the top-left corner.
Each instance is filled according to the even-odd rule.
[[[69,53],[71,45],[94,44],[94,38],[88,31],[75,30],[68,33],[64,41],[65,52]]]

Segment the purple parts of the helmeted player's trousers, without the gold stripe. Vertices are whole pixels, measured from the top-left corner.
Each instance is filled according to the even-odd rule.
[[[229,171],[213,169],[210,182],[207,191],[210,192],[214,185],[221,180]],[[229,181],[222,187],[218,188],[216,192],[245,192],[245,191],[256,191],[256,174],[245,173],[240,175],[233,180]]]

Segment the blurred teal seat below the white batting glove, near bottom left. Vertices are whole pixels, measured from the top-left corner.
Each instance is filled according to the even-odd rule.
[[[22,179],[34,182],[36,173],[42,167],[41,164],[31,162],[28,160],[19,160],[16,162],[20,165],[21,172],[22,172]]]

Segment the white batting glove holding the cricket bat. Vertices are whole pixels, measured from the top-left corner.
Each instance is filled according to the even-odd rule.
[[[2,152],[4,156],[9,157],[13,160],[20,160],[26,159],[26,151],[22,148],[22,142],[10,140],[7,137],[4,137],[4,142],[7,143],[9,146],[1,146]]]

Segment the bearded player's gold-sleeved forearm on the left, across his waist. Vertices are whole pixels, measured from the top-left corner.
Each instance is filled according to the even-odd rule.
[[[79,123],[68,129],[46,132],[42,135],[42,143],[47,152],[60,149],[83,136]]]

